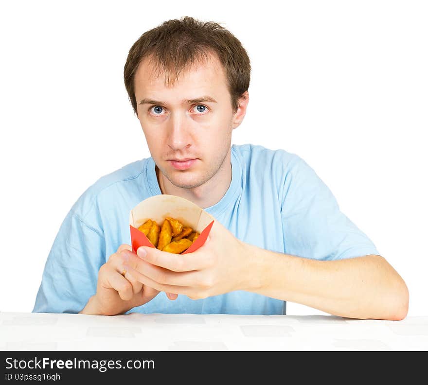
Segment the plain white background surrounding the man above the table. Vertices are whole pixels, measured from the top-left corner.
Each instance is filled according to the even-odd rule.
[[[67,212],[149,157],[123,68],[162,21],[223,23],[247,49],[232,143],[298,154],[428,315],[426,1],[14,1],[0,6],[0,311],[31,312]],[[282,4],[282,5],[280,5]],[[326,314],[288,302],[287,314]]]

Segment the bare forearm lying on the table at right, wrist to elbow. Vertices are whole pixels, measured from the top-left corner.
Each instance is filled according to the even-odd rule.
[[[407,286],[381,256],[318,261],[245,248],[249,291],[343,317],[399,320],[407,315]]]

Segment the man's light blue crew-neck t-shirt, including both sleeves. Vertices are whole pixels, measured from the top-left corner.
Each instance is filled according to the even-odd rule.
[[[232,181],[205,211],[238,239],[267,250],[321,261],[379,254],[339,210],[315,171],[285,150],[232,145]],[[152,157],[98,179],[72,206],[49,253],[33,309],[78,313],[96,293],[98,270],[121,244],[131,244],[129,212],[161,194]],[[286,277],[284,277],[286,279]],[[284,302],[233,291],[193,300],[158,294],[127,313],[283,314]]]

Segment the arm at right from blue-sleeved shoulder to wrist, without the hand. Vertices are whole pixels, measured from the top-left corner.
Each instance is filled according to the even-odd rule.
[[[315,170],[297,158],[284,173],[284,254],[248,247],[264,261],[256,292],[334,315],[403,319],[404,280],[339,209]]]

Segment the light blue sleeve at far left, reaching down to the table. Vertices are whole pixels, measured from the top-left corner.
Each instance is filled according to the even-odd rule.
[[[70,211],[46,261],[33,313],[78,313],[96,293],[103,234]]]

